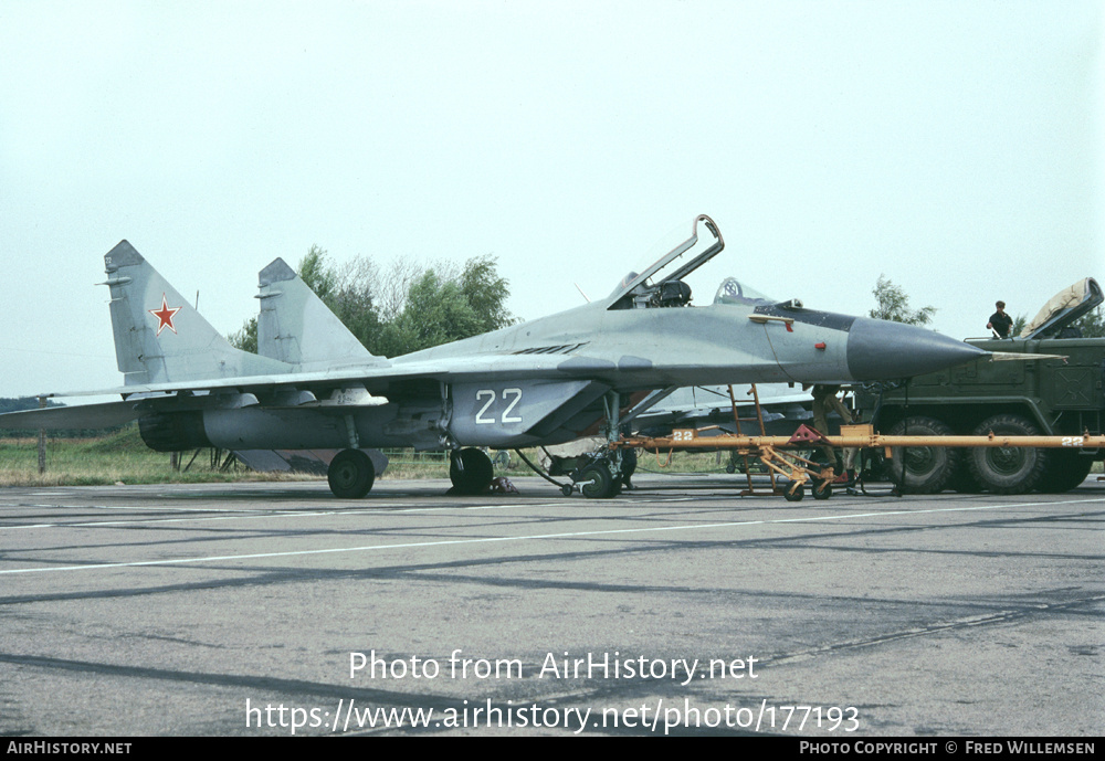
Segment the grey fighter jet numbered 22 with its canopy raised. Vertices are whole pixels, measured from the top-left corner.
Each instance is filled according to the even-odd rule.
[[[686,276],[724,247],[699,215],[688,239],[604,299],[386,359],[280,260],[260,274],[259,353],[239,351],[123,241],[104,257],[104,285],[124,385],[85,392],[120,401],[9,413],[0,429],[137,420],[159,452],[340,448],[327,475],[344,498],[371,489],[369,447],[446,450],[454,490],[475,494],[493,475],[475,447],[613,441],[680,387],[897,379],[986,353],[922,328],[775,303],[734,278],[712,304],[691,306]],[[617,494],[620,463],[617,450],[597,458],[583,493]]]

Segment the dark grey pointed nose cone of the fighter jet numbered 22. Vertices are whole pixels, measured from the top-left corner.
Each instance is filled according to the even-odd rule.
[[[848,336],[848,370],[861,381],[923,376],[988,353],[933,330],[867,317],[857,317]]]

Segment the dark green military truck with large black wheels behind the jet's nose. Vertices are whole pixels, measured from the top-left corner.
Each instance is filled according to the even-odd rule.
[[[1071,326],[1102,300],[1101,286],[1087,277],[1049,302],[1019,337],[967,340],[987,351],[1066,359],[976,360],[896,388],[865,389],[856,402],[864,419],[890,435],[1101,434],[1105,338],[1082,338]],[[904,492],[1022,494],[1074,488],[1105,450],[918,446],[895,454],[890,477]]]

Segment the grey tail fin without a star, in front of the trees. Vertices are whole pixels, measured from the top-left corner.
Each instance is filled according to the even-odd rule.
[[[305,369],[381,364],[284,260],[257,274],[257,353]]]

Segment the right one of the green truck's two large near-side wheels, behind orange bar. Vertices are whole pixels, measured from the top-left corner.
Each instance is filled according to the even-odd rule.
[[[976,436],[1039,436],[1040,430],[1021,415],[1002,413],[983,420]],[[1048,451],[1031,446],[976,446],[968,458],[970,472],[991,494],[1024,494],[1040,486],[1048,471]]]

